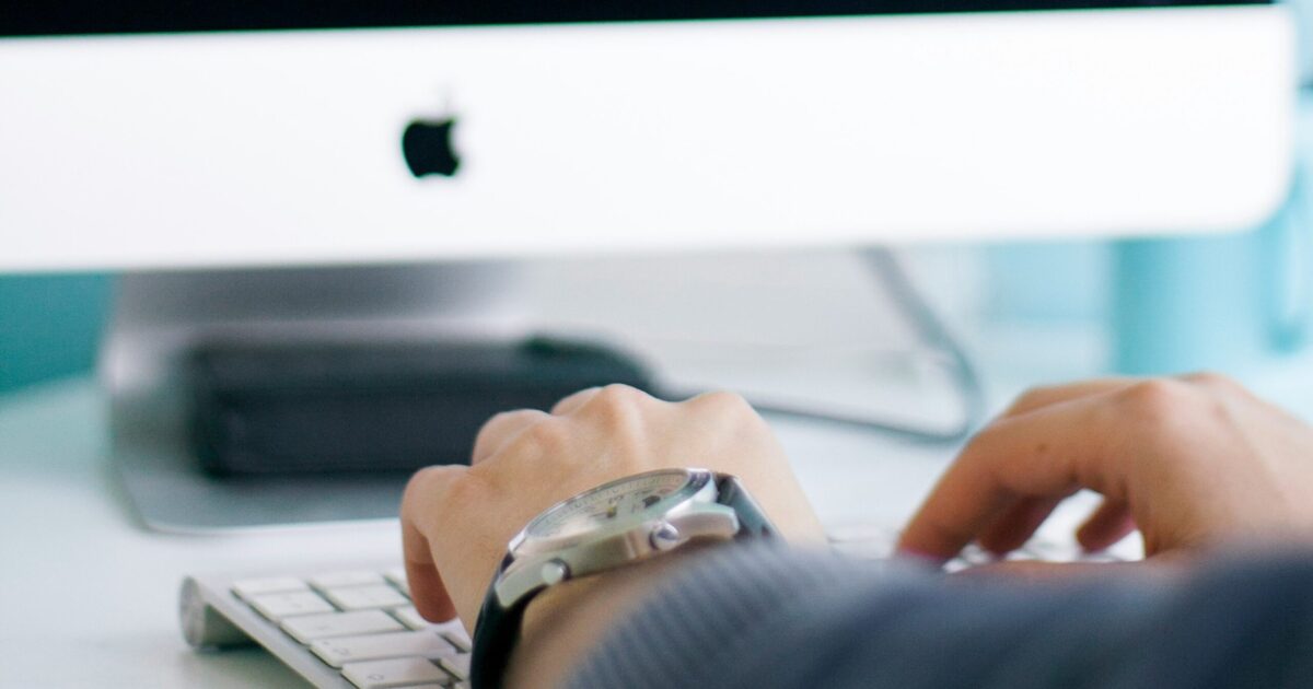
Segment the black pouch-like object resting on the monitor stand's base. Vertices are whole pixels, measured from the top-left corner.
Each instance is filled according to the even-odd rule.
[[[217,475],[412,471],[469,463],[507,409],[586,387],[651,386],[600,346],[523,343],[213,343],[189,358],[192,444]]]

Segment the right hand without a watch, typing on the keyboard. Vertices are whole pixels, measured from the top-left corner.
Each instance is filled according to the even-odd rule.
[[[1313,429],[1216,374],[1037,388],[977,434],[907,524],[899,551],[1020,547],[1081,488],[1102,550],[1138,526],[1145,554],[1257,537],[1313,541]]]

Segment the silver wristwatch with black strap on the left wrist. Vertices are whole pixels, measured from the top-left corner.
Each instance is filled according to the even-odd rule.
[[[738,478],[663,469],[605,483],[534,517],[507,549],[474,625],[470,682],[499,689],[529,601],[567,579],[676,550],[692,539],[771,537]]]

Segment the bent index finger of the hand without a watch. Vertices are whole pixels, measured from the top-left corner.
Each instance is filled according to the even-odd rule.
[[[1107,394],[1106,394],[1107,395]],[[903,529],[899,550],[951,558],[1019,497],[1104,492],[1119,438],[1106,395],[1044,407],[990,424],[944,472]]]

